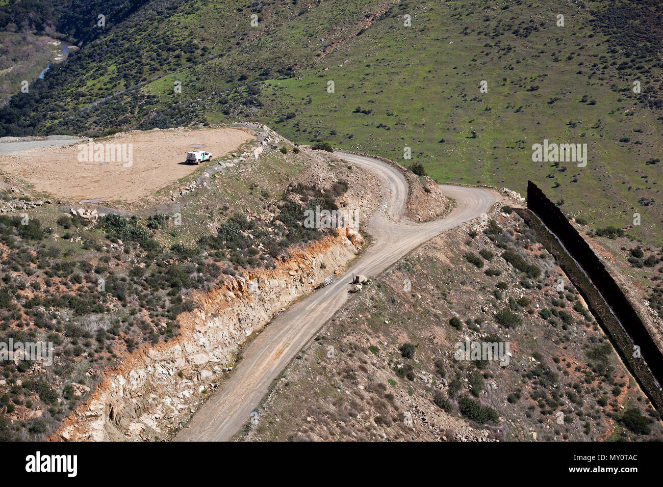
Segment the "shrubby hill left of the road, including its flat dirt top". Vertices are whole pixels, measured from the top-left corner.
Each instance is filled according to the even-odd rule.
[[[50,187],[7,174],[0,186],[0,354],[12,343],[52,344],[45,360],[2,355],[0,441],[46,438],[109,369],[180,337],[188,323],[182,316],[211,301],[206,292],[237,291],[238,283],[245,289],[250,276],[275,274],[302,249],[329,246],[333,231],[305,227],[306,209],[338,203],[362,218],[371,213],[357,204],[373,184],[363,170],[252,127],[101,139],[133,140],[137,153],[156,153],[166,164],[92,164],[95,177],[84,174],[78,187],[62,184],[71,179],[62,154],[76,144],[0,154],[3,164],[27,153],[52,168]],[[218,152],[200,166],[178,164],[166,154],[173,140]],[[257,158],[254,144],[264,148]],[[111,189],[103,204],[79,201],[76,192]],[[361,246],[356,231],[337,240],[351,251]]]

